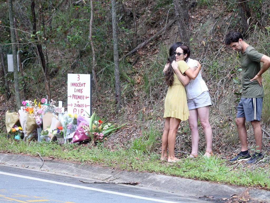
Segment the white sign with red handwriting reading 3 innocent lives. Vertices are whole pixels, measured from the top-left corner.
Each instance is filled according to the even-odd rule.
[[[90,74],[68,74],[68,113],[88,116],[91,109]]]

